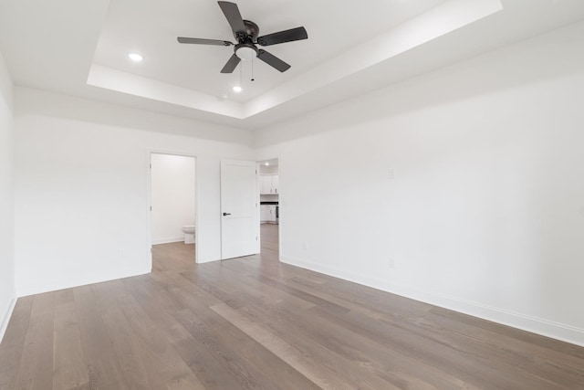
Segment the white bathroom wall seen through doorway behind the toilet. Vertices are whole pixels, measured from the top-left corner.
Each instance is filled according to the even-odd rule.
[[[194,157],[151,156],[152,243],[182,241],[183,226],[194,225]]]

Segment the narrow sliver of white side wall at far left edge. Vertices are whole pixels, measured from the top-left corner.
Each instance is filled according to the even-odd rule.
[[[0,341],[15,298],[12,79],[0,53]]]

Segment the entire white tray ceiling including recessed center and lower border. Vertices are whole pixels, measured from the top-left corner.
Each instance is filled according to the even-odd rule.
[[[219,72],[233,47],[176,42],[233,41],[211,0],[3,0],[0,50],[16,85],[255,129],[584,18],[582,0],[236,3],[260,35],[308,30],[266,47],[287,72],[255,61],[252,83],[245,64],[241,94]]]

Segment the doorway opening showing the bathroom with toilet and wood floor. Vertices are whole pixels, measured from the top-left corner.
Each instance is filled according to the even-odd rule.
[[[196,262],[196,158],[150,153],[151,269]]]

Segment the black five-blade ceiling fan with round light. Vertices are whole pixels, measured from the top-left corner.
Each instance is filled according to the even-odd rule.
[[[229,22],[229,25],[234,32],[234,37],[237,43],[220,39],[178,37],[177,39],[179,43],[234,46],[234,54],[229,58],[223,69],[221,69],[221,73],[233,73],[242,59],[251,60],[254,57],[261,59],[266,62],[267,65],[281,72],[290,69],[290,66],[286,62],[268,53],[266,50],[258,48],[256,45],[270,46],[284,42],[307,39],[308,34],[304,27],[291,28],[289,30],[268,34],[263,37],[257,37],[259,35],[259,27],[254,22],[244,20],[235,3],[226,1],[218,1],[217,3],[221,7],[224,16],[227,18],[227,22]]]

